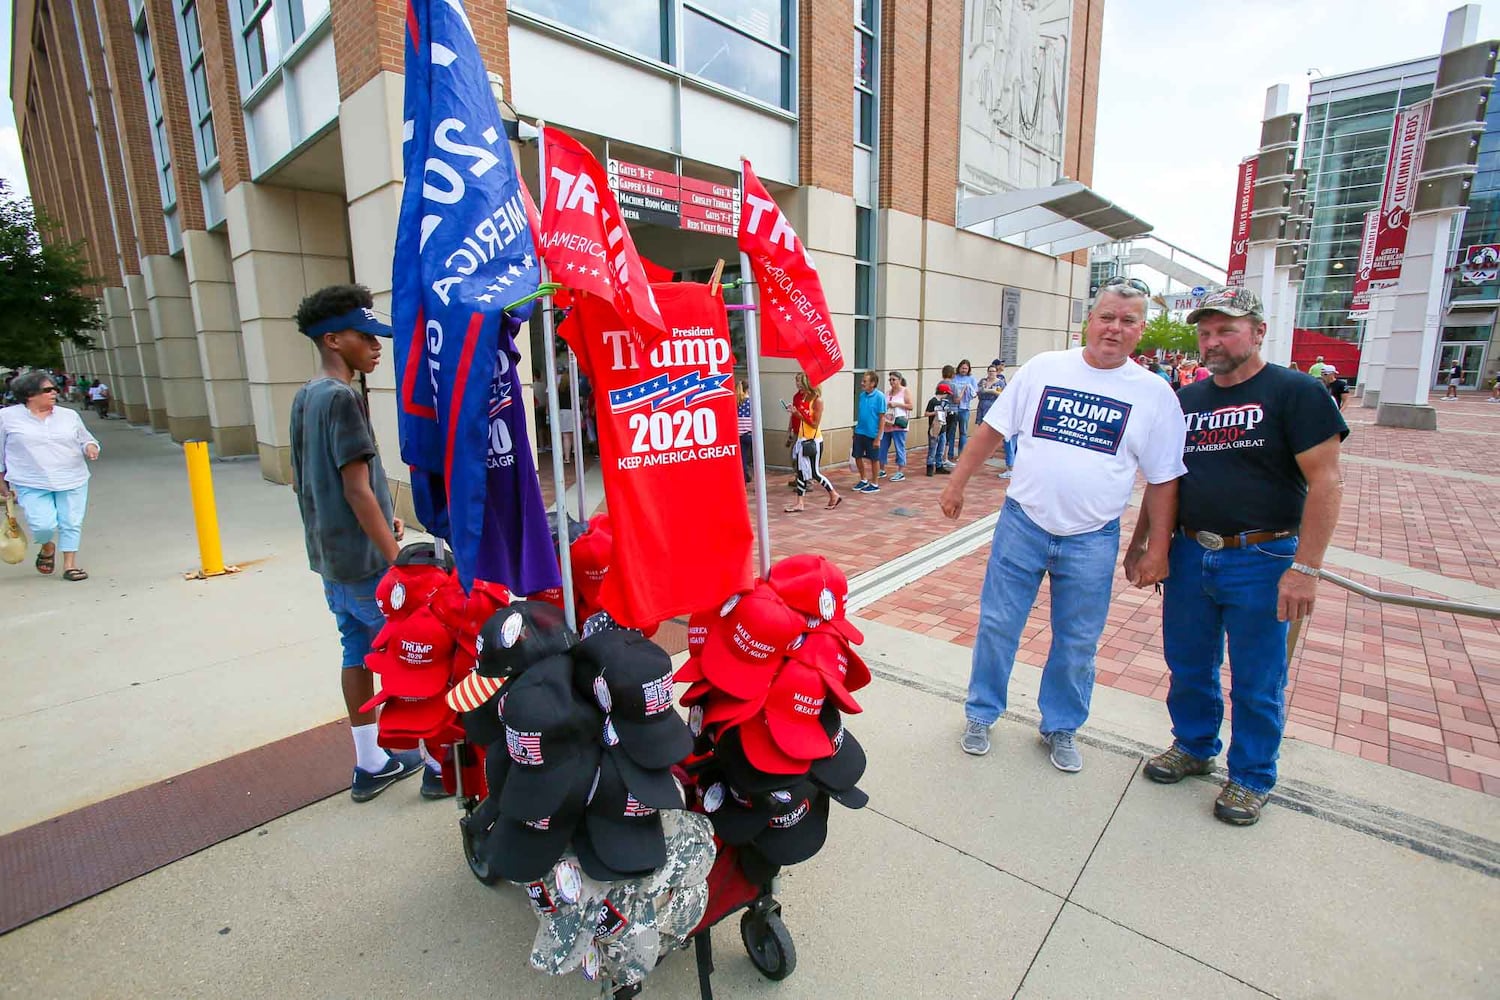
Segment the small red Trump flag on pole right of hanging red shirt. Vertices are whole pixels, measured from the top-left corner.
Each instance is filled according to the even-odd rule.
[[[740,249],[760,294],[760,354],[795,358],[818,385],[843,369],[843,349],[813,258],[786,216],[742,162]]]

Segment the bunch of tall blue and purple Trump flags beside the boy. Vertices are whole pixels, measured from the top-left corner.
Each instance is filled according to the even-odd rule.
[[[482,579],[532,594],[560,573],[555,555],[537,555],[550,535],[531,442],[524,420],[507,421],[500,442],[513,460],[498,463],[492,411],[514,357],[502,310],[537,289],[537,252],[462,0],[408,0],[404,117],[392,325],[417,519],[453,546],[465,585],[483,567]],[[519,411],[519,385],[507,384]]]

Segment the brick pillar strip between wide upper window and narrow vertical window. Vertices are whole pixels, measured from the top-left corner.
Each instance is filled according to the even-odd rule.
[[[854,6],[798,4],[798,178],[854,193]]]

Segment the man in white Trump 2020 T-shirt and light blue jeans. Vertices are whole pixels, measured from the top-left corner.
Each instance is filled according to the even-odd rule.
[[[1172,387],[1130,360],[1146,325],[1149,295],[1136,279],[1106,282],[1089,313],[1088,343],[1040,354],[1022,366],[984,415],[942,493],[944,514],[958,517],[969,477],[1002,441],[1022,445],[980,594],[964,753],[990,751],[990,729],[1005,714],[1022,628],[1046,574],[1052,579],[1052,648],[1036,699],[1041,735],[1059,771],[1083,768],[1074,735],[1089,717],[1120,514],[1137,471],[1148,483],[1142,504],[1152,532],[1134,583],[1152,586],[1167,576],[1178,477],[1186,472],[1185,426]]]

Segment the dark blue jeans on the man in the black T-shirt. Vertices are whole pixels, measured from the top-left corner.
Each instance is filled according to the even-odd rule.
[[[1280,538],[1209,552],[1179,532],[1172,540],[1172,574],[1162,592],[1172,735],[1194,757],[1222,750],[1220,667],[1227,634],[1234,706],[1228,780],[1260,793],[1276,784],[1287,718],[1287,622],[1276,621],[1276,585],[1296,550],[1296,538]]]

